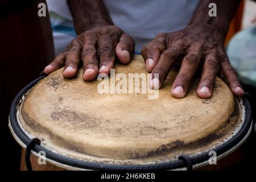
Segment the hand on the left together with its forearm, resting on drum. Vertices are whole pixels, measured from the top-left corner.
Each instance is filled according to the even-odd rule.
[[[130,35],[114,26],[102,0],[68,0],[77,37],[45,69],[49,74],[64,67],[63,76],[76,75],[81,62],[82,78],[93,80],[98,73],[110,73],[115,56],[121,63],[133,58],[135,43]]]

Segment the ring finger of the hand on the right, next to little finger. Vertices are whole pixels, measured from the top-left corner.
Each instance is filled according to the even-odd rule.
[[[205,57],[201,79],[197,88],[197,96],[210,98],[212,96],[215,78],[218,73],[218,60],[216,53],[209,53]]]

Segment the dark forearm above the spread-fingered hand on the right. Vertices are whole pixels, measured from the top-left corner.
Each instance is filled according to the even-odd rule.
[[[240,2],[241,0],[201,0],[187,27],[216,28],[226,36]],[[216,4],[217,16],[209,16],[210,3]]]

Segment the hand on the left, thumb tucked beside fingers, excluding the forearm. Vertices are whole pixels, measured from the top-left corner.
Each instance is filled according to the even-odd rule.
[[[49,74],[64,67],[63,76],[71,78],[77,74],[80,61],[84,68],[82,78],[93,80],[100,73],[109,75],[114,67],[115,56],[127,64],[133,58],[135,43],[129,34],[116,26],[96,27],[78,35],[64,52],[56,56],[44,73]]]

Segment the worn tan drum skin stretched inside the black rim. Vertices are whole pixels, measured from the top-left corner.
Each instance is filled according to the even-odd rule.
[[[241,123],[240,102],[220,78],[209,99],[197,97],[198,78],[187,96],[177,99],[170,93],[174,68],[158,99],[148,100],[148,93],[100,94],[100,81],[83,81],[82,69],[73,79],[63,78],[62,72],[51,73],[30,90],[19,122],[43,147],[71,158],[109,164],[168,162],[221,145]],[[117,73],[147,74],[142,56],[134,56],[129,65],[115,64]]]

